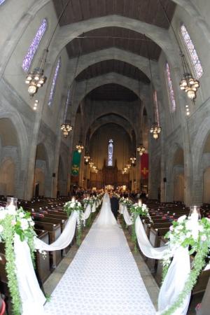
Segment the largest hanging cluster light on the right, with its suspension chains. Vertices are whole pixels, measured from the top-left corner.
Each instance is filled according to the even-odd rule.
[[[167,18],[167,22],[169,23],[170,27],[172,27],[172,31],[174,33],[174,37],[176,39],[176,43],[179,46],[179,52],[181,56],[181,64],[183,66],[183,78],[181,79],[179,86],[181,90],[185,91],[193,102],[195,101],[197,97],[197,90],[200,87],[199,80],[193,78],[193,74],[190,71],[190,66],[188,65],[188,62],[186,60],[185,55],[183,54],[183,51],[181,50],[181,45],[179,44],[178,38],[176,36],[176,32],[174,31],[174,27],[167,15],[167,11],[165,10],[165,6],[163,6],[162,1],[159,0],[160,6],[162,6],[162,10],[165,13],[165,17]]]

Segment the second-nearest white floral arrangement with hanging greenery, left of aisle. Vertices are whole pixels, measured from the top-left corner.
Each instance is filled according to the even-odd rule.
[[[82,238],[82,220],[83,220],[83,207],[78,200],[72,198],[71,201],[66,202],[64,204],[64,211],[66,212],[67,216],[70,216],[73,211],[77,212],[77,235],[76,235],[76,244],[80,246],[81,238]]]

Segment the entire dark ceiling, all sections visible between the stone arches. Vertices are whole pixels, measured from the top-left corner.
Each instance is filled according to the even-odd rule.
[[[53,0],[57,17],[68,0]],[[167,11],[169,20],[172,20],[176,4],[171,0],[161,0]],[[77,22],[83,22],[94,18],[115,15],[141,21],[154,27],[162,29],[169,28],[169,22],[160,6],[159,0],[71,0],[67,6],[62,19],[59,22],[61,27]],[[131,20],[131,23],[132,23]],[[123,25],[122,25],[123,26]],[[76,38],[69,38],[66,50],[69,58],[87,55],[91,52],[105,50],[107,48],[119,48],[122,51],[132,52],[135,55],[158,61],[161,48],[148,36],[132,29],[124,27],[107,26],[92,29],[81,33]],[[149,67],[146,60],[146,67]],[[122,76],[139,80],[143,83],[150,83],[145,73],[136,66],[117,60],[115,57],[103,60],[88,66],[76,78],[77,81],[88,80],[106,73],[119,73]],[[120,83],[119,83],[120,84]],[[116,84],[106,84],[93,90],[88,97],[97,100],[125,100],[134,101],[137,99],[130,90]]]

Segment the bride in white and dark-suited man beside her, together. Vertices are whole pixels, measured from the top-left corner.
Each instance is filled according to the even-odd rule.
[[[97,218],[96,225],[107,226],[117,225],[119,202],[118,198],[112,193],[105,193],[102,203],[102,209]]]

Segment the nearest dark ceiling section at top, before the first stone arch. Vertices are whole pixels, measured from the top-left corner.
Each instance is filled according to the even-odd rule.
[[[53,0],[53,2],[59,16],[66,0]],[[175,3],[170,0],[162,0],[162,4],[165,6],[169,18],[172,19],[176,7]],[[158,0],[72,0],[60,25],[68,25],[113,14],[126,16],[166,29],[169,27]]]

